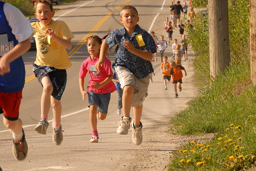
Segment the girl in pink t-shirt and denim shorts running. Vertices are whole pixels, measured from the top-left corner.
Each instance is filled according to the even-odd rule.
[[[95,63],[99,60],[99,50],[101,48],[102,39],[99,36],[90,36],[87,38],[87,49],[90,56],[82,63],[79,72],[79,87],[83,101],[85,95],[88,94],[88,107],[90,108],[90,124],[93,136],[91,143],[97,143],[99,139],[97,131],[97,117],[104,120],[108,113],[110,101],[110,93],[116,90],[116,86],[112,82],[113,71],[111,62],[105,57],[105,63],[97,72],[94,68]],[[89,83],[87,92],[84,90],[84,78],[89,73]]]

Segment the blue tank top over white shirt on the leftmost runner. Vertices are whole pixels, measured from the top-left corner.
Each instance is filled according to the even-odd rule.
[[[0,44],[0,58],[8,53],[18,44],[15,35],[12,34],[12,28],[4,14],[4,2],[0,1],[0,35],[7,35],[8,43]],[[21,28],[24,29],[24,28]],[[22,57],[15,59],[10,63],[10,72],[0,75],[0,92],[15,93],[23,89],[25,84],[25,65]]]

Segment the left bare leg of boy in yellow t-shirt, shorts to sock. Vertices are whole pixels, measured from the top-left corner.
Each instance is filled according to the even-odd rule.
[[[49,75],[42,78],[43,93],[41,97],[41,115],[48,116],[50,105],[51,105],[51,94],[53,91],[52,82],[50,81]]]

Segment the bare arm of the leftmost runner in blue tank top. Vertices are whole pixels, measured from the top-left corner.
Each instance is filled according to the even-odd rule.
[[[10,72],[10,63],[28,51],[30,46],[31,44],[29,38],[18,43],[12,50],[4,54],[0,58],[0,74],[4,75]]]

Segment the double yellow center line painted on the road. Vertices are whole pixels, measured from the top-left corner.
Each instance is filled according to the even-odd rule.
[[[114,9],[119,9],[124,4],[128,3],[130,0],[126,0]],[[86,35],[80,42],[68,53],[68,58],[71,58],[80,48],[83,46],[83,44],[87,41],[87,37],[90,37],[93,35],[98,28],[114,13],[114,11],[110,11],[107,15],[105,15],[94,27],[93,29]],[[35,75],[30,75],[29,77],[25,78],[25,83],[31,81],[35,78]]]

